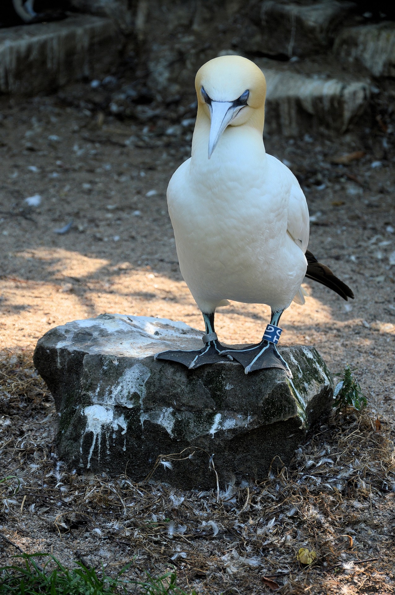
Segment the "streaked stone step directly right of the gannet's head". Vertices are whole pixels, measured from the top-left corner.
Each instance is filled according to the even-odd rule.
[[[255,62],[266,76],[266,133],[298,136],[320,127],[343,133],[368,105],[368,82],[276,69],[273,60]]]

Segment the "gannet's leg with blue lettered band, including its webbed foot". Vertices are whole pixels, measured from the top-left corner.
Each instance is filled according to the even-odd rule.
[[[271,311],[270,324],[267,325],[260,343],[246,349],[226,349],[222,355],[231,355],[233,359],[244,366],[246,374],[264,368],[281,368],[285,370],[287,377],[292,378],[289,365],[276,347],[282,332],[282,329],[277,326],[282,313],[283,310],[280,312]]]

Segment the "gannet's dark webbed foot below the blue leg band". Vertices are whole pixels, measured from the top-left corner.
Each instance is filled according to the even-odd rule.
[[[285,359],[280,355],[274,343],[262,340],[258,345],[247,349],[226,349],[222,355],[230,355],[244,367],[245,374],[266,368],[280,368],[292,378],[292,372]]]

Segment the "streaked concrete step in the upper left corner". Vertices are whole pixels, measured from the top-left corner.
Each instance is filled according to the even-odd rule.
[[[92,15],[0,29],[0,93],[34,95],[108,74],[121,45],[113,21]]]

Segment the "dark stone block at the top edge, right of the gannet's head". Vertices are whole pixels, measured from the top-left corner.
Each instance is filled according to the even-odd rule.
[[[289,58],[322,52],[333,42],[337,26],[353,2],[309,2],[296,4],[266,0],[261,3],[255,35],[244,37],[243,49]]]

